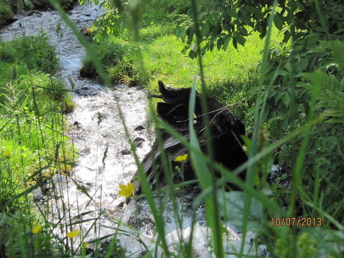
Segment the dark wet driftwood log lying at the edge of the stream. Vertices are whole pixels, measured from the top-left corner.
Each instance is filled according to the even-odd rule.
[[[158,84],[161,95],[151,95],[151,97],[156,97],[165,101],[165,103],[158,103],[158,115],[171,124],[186,140],[189,140],[187,119],[191,88],[165,88],[160,80]],[[207,97],[207,105],[213,157],[226,168],[233,170],[247,160],[246,153],[242,148],[243,142],[240,138],[240,135],[245,134],[245,126],[234,113],[229,112],[227,108],[218,101]],[[204,136],[204,128],[206,125],[202,120],[201,94],[198,92],[196,92],[195,115],[195,131],[202,151],[206,152],[206,140]],[[163,142],[163,150],[166,154],[170,155],[172,160],[172,168],[174,169],[175,166],[181,166],[181,163],[174,162],[173,159],[188,153],[187,148],[163,130],[161,130],[161,139]],[[162,184],[166,183],[166,180],[164,180],[166,175],[164,175],[162,169],[161,152],[162,149],[158,147],[158,141],[156,139],[152,146],[152,150],[142,161],[144,172],[148,175],[148,180],[153,189],[157,189],[161,187]],[[180,182],[182,179],[186,181],[195,178],[189,157],[183,163],[183,171],[183,176],[181,176],[179,172],[175,172],[173,177],[175,183]],[[245,172],[241,173],[239,176],[244,179]],[[136,176],[133,177],[131,183],[136,183],[136,194],[139,194],[141,193],[141,185],[139,182],[135,182],[134,178],[136,178]],[[236,188],[235,186],[231,187]]]

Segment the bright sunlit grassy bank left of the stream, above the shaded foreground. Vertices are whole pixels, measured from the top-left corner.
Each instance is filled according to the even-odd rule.
[[[19,200],[8,207],[6,203],[28,185],[71,168],[58,164],[72,160],[72,147],[61,133],[66,129],[63,113],[72,111],[74,103],[65,85],[52,77],[57,67],[44,33],[0,42],[2,210],[15,211]],[[37,173],[45,166],[51,169]]]

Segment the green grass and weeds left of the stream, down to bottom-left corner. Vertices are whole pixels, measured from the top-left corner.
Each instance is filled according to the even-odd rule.
[[[27,237],[39,218],[27,200],[48,176],[69,173],[73,158],[63,113],[74,103],[52,77],[54,51],[43,32],[0,41],[0,255],[5,245],[12,256],[52,255],[49,238]]]

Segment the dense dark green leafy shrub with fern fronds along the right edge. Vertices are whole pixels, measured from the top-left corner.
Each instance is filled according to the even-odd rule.
[[[340,15],[344,5],[325,1],[321,8],[322,14],[330,17],[326,27],[321,26],[313,5],[295,16],[291,34],[284,33],[284,42],[292,37],[293,48],[270,50],[267,84],[263,87],[267,95],[264,119],[270,136],[278,139],[314,117],[327,116],[311,132],[285,144],[275,153],[275,158],[281,165],[294,167],[301,149],[299,143],[305,141],[307,146],[301,161],[304,194],[320,202],[335,219],[343,221],[344,214],[339,212],[339,207],[344,204],[344,187],[339,182],[344,172],[344,30],[338,24],[344,21]],[[257,99],[261,92],[252,87],[249,94]],[[252,107],[251,113],[255,109]]]

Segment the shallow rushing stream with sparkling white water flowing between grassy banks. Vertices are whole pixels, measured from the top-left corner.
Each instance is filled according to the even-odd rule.
[[[102,10],[96,6],[75,6],[70,11],[71,19],[78,29],[91,27],[96,17]],[[56,22],[61,22],[61,32],[55,32]],[[19,25],[21,23],[21,27]],[[137,170],[135,159],[128,149],[130,146],[126,140],[124,128],[118,115],[116,101],[125,118],[126,126],[132,140],[139,139],[140,145],[137,154],[140,160],[150,151],[154,135],[150,133],[150,125],[147,121],[147,92],[144,88],[128,88],[126,85],[114,85],[115,90],[107,89],[101,82],[82,78],[79,70],[85,57],[85,50],[77,41],[74,34],[62,21],[56,11],[42,11],[31,16],[20,16],[14,23],[0,30],[0,37],[10,40],[14,37],[36,34],[40,29],[49,35],[50,43],[56,48],[56,54],[60,62],[60,71],[55,74],[70,87],[67,78],[75,83],[72,93],[76,109],[67,115],[67,122],[71,129],[66,132],[71,138],[78,158],[77,166],[73,168],[72,177],[78,185],[87,190],[92,197],[80,191],[71,179],[56,175],[51,180],[58,186],[55,195],[58,198],[51,199],[49,219],[52,221],[64,220],[65,223],[81,222],[81,235],[85,237],[83,242],[92,241],[99,237],[114,234],[117,229],[122,230],[117,243],[126,257],[141,257],[146,253],[145,246],[154,250],[157,235],[153,215],[145,199],[137,202],[131,201],[127,206],[125,198],[118,195],[119,185],[130,182]],[[98,112],[101,113],[101,122],[98,126]],[[138,128],[135,130],[138,126]],[[140,130],[139,130],[140,129]],[[103,164],[102,159],[107,148],[107,156]],[[123,155],[125,154],[125,155]],[[36,195],[42,195],[39,191]],[[178,207],[183,214],[182,225],[178,224],[173,212],[173,204],[168,200],[164,209],[166,241],[169,249],[174,254],[179,252],[179,238],[190,236],[194,195],[189,193],[183,201],[177,198]],[[162,201],[161,196],[155,197],[157,204]],[[65,208],[62,208],[62,203]],[[60,212],[56,212],[60,210]],[[61,213],[62,212],[62,213]],[[196,212],[196,224],[194,226],[194,257],[212,257],[209,228],[205,225],[204,208],[201,205]],[[96,223],[94,223],[96,221]],[[131,227],[120,225],[128,224]],[[225,251],[237,252],[241,247],[242,235],[234,226],[226,225]],[[60,234],[63,229],[56,229]],[[65,231],[64,231],[65,233]],[[254,233],[248,233],[244,248],[245,254],[266,256],[266,247],[251,244],[255,238]],[[77,247],[80,239],[76,239],[74,247]],[[141,242],[141,243],[140,243]],[[89,247],[92,248],[90,244]],[[256,249],[258,250],[256,252]],[[90,254],[92,255],[92,254]],[[89,256],[90,256],[89,255]],[[162,249],[158,248],[158,256],[165,257]],[[228,254],[226,257],[236,257]]]

